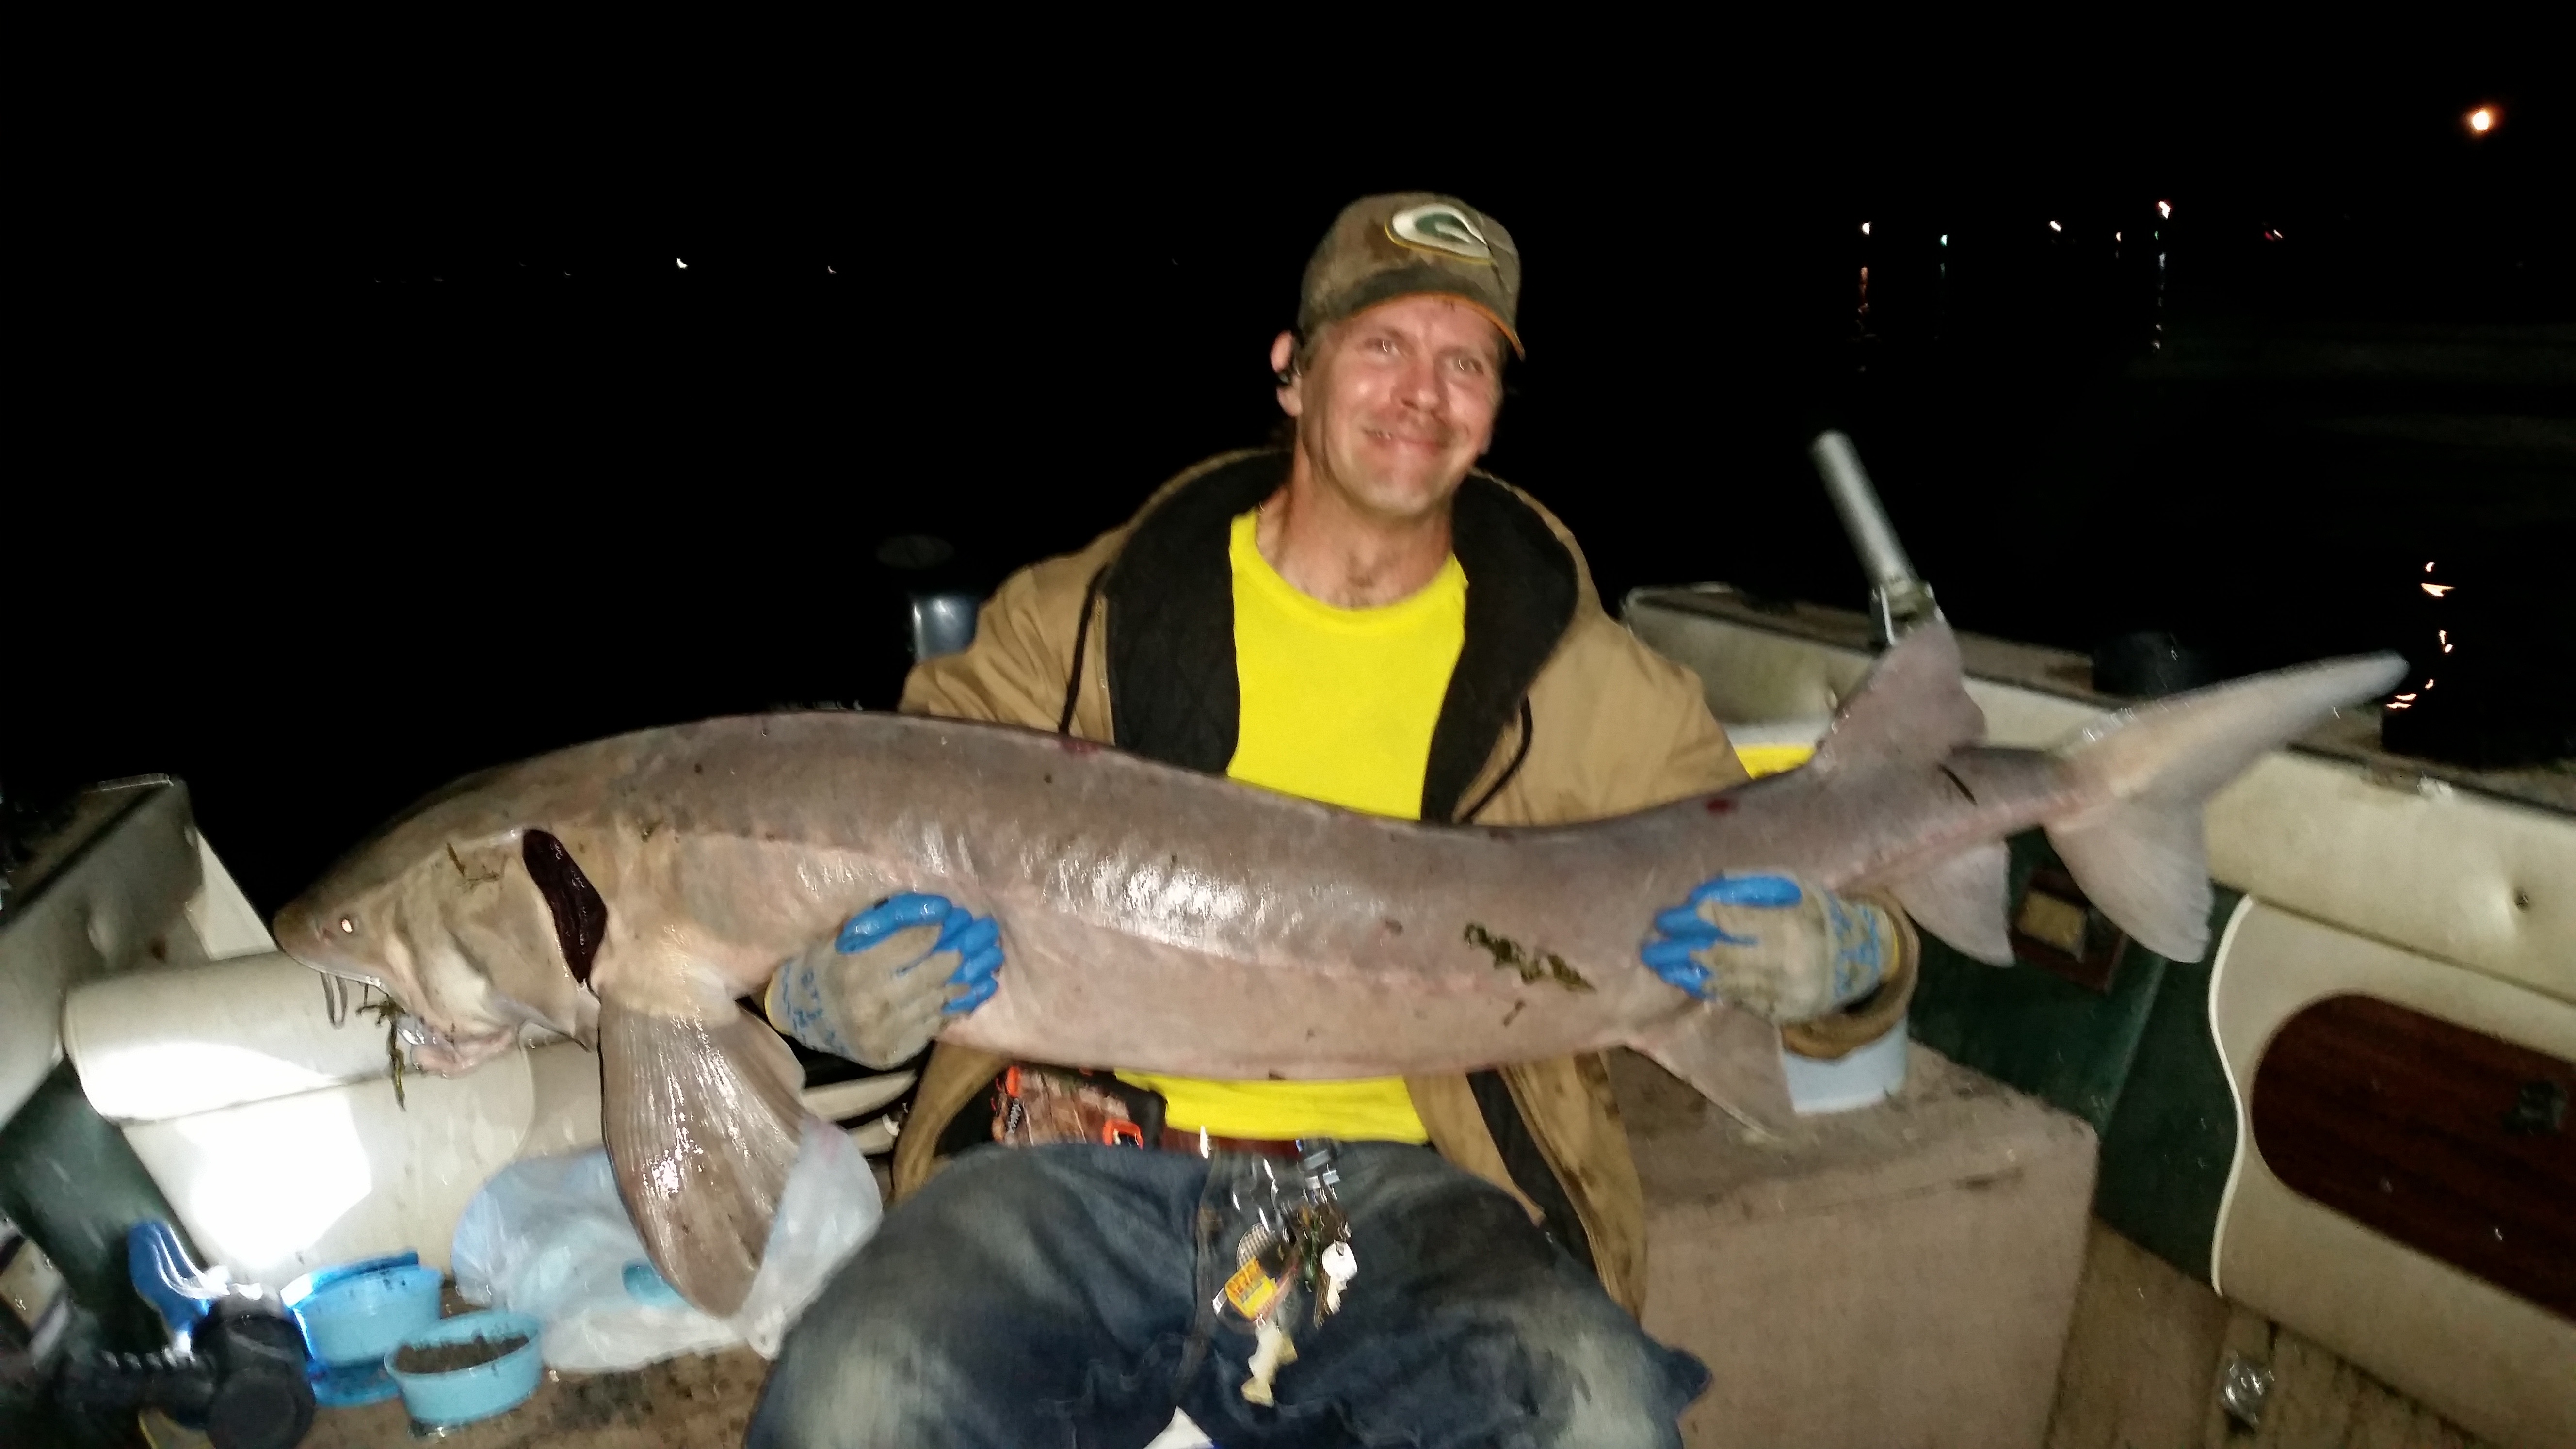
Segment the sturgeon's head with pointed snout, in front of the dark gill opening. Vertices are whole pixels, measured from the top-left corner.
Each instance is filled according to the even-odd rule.
[[[497,799],[433,797],[278,910],[278,949],[394,998],[425,1070],[466,1070],[531,1029],[587,1044],[598,1000],[564,964],[526,830]]]

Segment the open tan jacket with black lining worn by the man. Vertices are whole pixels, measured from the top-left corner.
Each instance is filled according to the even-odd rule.
[[[1136,730],[1149,724],[1141,714],[1151,712],[1177,719],[1157,724],[1157,740],[1185,740],[1164,748],[1164,758],[1221,771],[1231,753],[1231,670],[1206,670],[1229,676],[1216,681],[1216,724],[1200,724],[1193,714],[1206,709],[1206,699],[1172,701],[1159,694],[1146,699],[1144,683],[1159,683],[1154,670],[1164,668],[1164,657],[1231,663],[1231,603],[1216,608],[1213,621],[1172,619],[1170,614],[1180,614],[1177,606],[1139,593],[1159,588],[1159,580],[1131,583],[1121,570],[1151,565],[1157,572],[1195,580],[1175,588],[1224,588],[1224,536],[1213,534],[1216,552],[1208,565],[1203,559],[1208,529],[1267,498],[1280,480],[1285,480],[1283,454],[1208,459],[1164,485],[1128,526],[1100,536],[1079,554],[1015,572],[984,603],[976,639],[966,652],[912,670],[902,706],[956,719],[1066,727],[1087,740],[1126,748],[1133,748]],[[1623,815],[1744,779],[1734,748],[1708,714],[1700,681],[1636,642],[1602,611],[1592,575],[1564,523],[1520,490],[1476,474],[1461,490],[1455,534],[1458,557],[1468,565],[1468,647],[1461,652],[1458,678],[1432,743],[1432,776],[1450,779],[1427,781],[1425,797],[1437,810],[1437,815],[1427,810],[1427,820],[1471,815],[1484,825],[1558,825]],[[1535,565],[1525,570],[1530,578],[1512,578],[1494,559],[1535,559]],[[1538,598],[1538,606],[1522,606],[1525,596]],[[1157,603],[1146,603],[1149,598]],[[1533,639],[1486,647],[1489,639],[1481,642],[1479,634],[1479,627],[1484,637],[1515,629],[1528,634],[1533,621],[1548,632],[1535,647]],[[1200,637],[1193,639],[1193,629]],[[1206,637],[1211,632],[1224,637]],[[1525,688],[1497,691],[1494,681],[1515,678],[1515,657],[1525,657],[1522,673],[1535,670],[1535,676]],[[1077,660],[1079,688],[1072,688]],[[1133,704],[1113,699],[1121,681]],[[1139,719],[1123,717],[1123,709]],[[1499,727],[1484,730],[1481,722]],[[1458,763],[1443,766],[1445,758]],[[1435,794],[1455,797],[1455,804],[1440,807]],[[1641,920],[1638,933],[1643,931]],[[999,1057],[948,1044],[933,1052],[912,1122],[894,1152],[896,1196],[930,1178],[940,1134],[1005,1065]],[[1494,1091],[1497,1078],[1507,1088],[1507,1104]],[[1497,1078],[1486,1078],[1484,1104],[1468,1075],[1406,1078],[1432,1147],[1517,1196],[1540,1222],[1551,1199],[1556,1212],[1571,1207],[1582,1248],[1589,1248],[1602,1284],[1636,1312],[1646,1292],[1646,1222],[1636,1163],[1610,1098],[1607,1065],[1597,1055],[1558,1057],[1502,1067]],[[1517,1129],[1497,1134],[1492,1127],[1497,1111],[1504,1122],[1517,1114],[1525,1134]],[[1530,1163],[1533,1145],[1543,1171]],[[1510,1160],[1515,1155],[1520,1163]],[[1546,1181],[1548,1176],[1553,1181]]]

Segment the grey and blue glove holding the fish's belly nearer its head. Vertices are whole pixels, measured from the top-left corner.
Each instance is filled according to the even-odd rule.
[[[904,892],[853,915],[770,975],[770,1026],[868,1067],[912,1060],[1002,990],[1002,928],[945,895]]]

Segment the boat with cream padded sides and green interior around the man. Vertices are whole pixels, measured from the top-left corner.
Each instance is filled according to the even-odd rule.
[[[1623,603],[1770,768],[1937,611],[1850,446],[1821,438],[1819,467],[1870,608],[1718,583]],[[914,627],[922,652],[963,634],[938,601]],[[2087,655],[1960,650],[1994,743],[2125,704]],[[2576,773],[2391,753],[2347,712],[2228,786],[2208,843],[2213,949],[2172,962],[2017,838],[2014,967],[1932,944],[1888,1039],[1780,1047],[1788,1122],[1615,1057],[1646,1328],[1721,1366],[1687,1444],[2576,1441]],[[33,1441],[49,1356],[165,1336],[129,1281],[137,1220],[232,1281],[443,1269],[492,1173],[598,1142],[582,1047],[415,1075],[381,1006],[276,951],[185,784],[106,781],[49,820],[0,913],[0,1439]],[[817,1073],[809,1106],[884,1152],[907,1085]],[[559,1374],[510,1434],[737,1444],[760,1374],[744,1348]],[[304,1441],[399,1436],[376,1403]]]

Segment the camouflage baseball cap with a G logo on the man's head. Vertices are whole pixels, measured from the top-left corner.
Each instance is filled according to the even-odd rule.
[[[1520,330],[1520,248],[1502,222],[1455,196],[1399,191],[1363,196],[1334,217],[1306,263],[1298,291],[1298,333],[1358,317],[1399,297],[1455,297],[1502,327],[1512,351]]]

